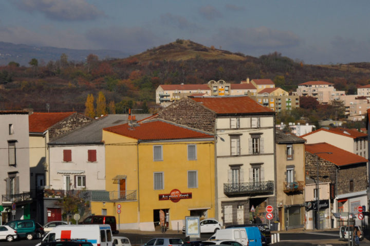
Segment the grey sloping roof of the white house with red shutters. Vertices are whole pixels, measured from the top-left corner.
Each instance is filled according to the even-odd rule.
[[[152,114],[135,114],[136,120],[144,119]],[[102,144],[103,128],[126,124],[128,114],[108,114],[100,119],[91,121],[90,124],[71,131],[53,141],[49,145],[78,145]]]

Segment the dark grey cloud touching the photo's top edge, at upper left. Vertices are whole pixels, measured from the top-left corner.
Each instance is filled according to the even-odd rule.
[[[49,19],[55,20],[93,20],[104,13],[85,0],[20,0],[13,2],[29,13],[40,12]]]

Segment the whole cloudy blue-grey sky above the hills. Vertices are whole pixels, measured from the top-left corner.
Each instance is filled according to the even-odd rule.
[[[131,54],[177,38],[305,64],[370,61],[370,1],[2,0],[0,41]]]

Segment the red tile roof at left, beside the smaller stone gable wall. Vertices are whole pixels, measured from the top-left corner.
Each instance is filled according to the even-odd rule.
[[[29,132],[45,132],[59,121],[76,112],[33,113],[28,117]]]

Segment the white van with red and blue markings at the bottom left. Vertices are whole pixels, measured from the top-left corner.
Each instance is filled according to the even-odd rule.
[[[41,242],[52,242],[55,239],[86,239],[94,246],[113,246],[112,230],[110,230],[109,224],[57,226],[46,234]],[[40,244],[36,244],[36,246]]]

